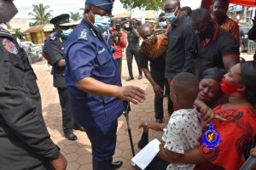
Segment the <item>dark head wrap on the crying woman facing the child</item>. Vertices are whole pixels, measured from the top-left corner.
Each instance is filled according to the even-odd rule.
[[[220,82],[221,78],[224,76],[226,72],[226,70],[217,67],[210,68],[202,72],[201,79],[210,78],[212,80]]]

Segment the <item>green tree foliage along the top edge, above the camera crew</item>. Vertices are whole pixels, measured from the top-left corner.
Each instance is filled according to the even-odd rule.
[[[127,9],[146,8],[146,10],[157,10],[163,8],[166,0],[120,0]]]

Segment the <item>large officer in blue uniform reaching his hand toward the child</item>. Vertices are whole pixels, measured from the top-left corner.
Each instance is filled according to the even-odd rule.
[[[93,156],[94,170],[121,167],[113,162],[117,119],[123,100],[143,102],[141,88],[122,87],[117,61],[102,37],[111,23],[111,0],[86,0],[84,20],[67,38],[65,46],[66,82],[71,92],[73,116],[85,128]]]

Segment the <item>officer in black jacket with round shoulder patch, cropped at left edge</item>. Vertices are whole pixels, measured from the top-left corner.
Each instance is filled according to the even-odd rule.
[[[0,24],[17,13],[12,0],[0,0]],[[66,169],[67,160],[49,138],[36,76],[26,53],[0,27],[0,169]]]

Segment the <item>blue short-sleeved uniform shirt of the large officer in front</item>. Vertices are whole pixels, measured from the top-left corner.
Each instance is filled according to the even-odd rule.
[[[98,127],[117,119],[123,100],[86,93],[75,87],[85,77],[121,86],[117,62],[105,42],[83,20],[67,38],[65,47],[66,82],[72,97],[73,116],[84,127]]]

